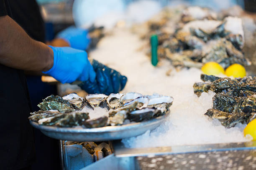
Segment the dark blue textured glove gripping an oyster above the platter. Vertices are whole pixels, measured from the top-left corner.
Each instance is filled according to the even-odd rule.
[[[92,66],[96,72],[96,79],[93,83],[88,80],[82,82],[79,86],[83,90],[90,94],[103,93],[105,95],[123,90],[127,77],[96,60],[92,61]]]

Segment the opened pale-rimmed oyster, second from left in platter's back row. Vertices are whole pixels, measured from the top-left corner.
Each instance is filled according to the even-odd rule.
[[[87,102],[89,102],[90,105],[94,108],[94,107],[99,107],[100,105],[102,107],[105,107],[106,104],[104,102],[107,102],[105,100],[107,97],[108,96],[104,94],[90,94],[90,95],[87,95],[85,98]]]

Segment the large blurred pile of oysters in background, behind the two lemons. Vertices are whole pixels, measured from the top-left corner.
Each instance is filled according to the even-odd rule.
[[[223,68],[234,63],[251,65],[242,52],[245,38],[241,18],[220,18],[214,11],[201,7],[166,8],[154,18],[147,23],[148,35],[143,38],[158,35],[159,58],[170,60],[177,69],[201,68],[210,61]],[[150,47],[146,53],[151,56]]]

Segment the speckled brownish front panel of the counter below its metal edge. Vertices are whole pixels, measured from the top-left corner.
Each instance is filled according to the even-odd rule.
[[[253,170],[256,149],[137,157],[141,170]]]

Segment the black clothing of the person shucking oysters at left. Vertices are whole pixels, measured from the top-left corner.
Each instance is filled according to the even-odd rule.
[[[0,0],[3,15],[13,18],[33,39],[44,41],[44,23],[35,0]],[[0,77],[0,169],[25,168],[35,159],[26,77],[23,70],[1,64]]]

